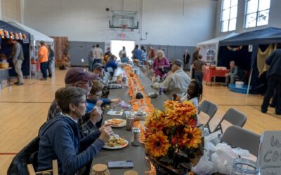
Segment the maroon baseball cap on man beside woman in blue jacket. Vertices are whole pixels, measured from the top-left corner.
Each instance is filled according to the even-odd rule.
[[[67,71],[65,75],[65,84],[76,83],[80,80],[96,80],[98,75],[89,73],[81,67],[74,67]]]

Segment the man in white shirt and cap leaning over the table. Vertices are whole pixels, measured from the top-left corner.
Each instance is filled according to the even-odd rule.
[[[183,62],[179,59],[174,60],[171,71],[172,73],[162,83],[153,83],[152,87],[155,89],[163,87],[165,94],[171,99],[173,94],[177,94],[182,98],[190,84],[190,77],[183,71]]]

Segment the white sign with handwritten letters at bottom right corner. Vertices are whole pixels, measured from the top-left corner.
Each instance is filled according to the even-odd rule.
[[[259,147],[258,164],[261,174],[280,174],[281,172],[281,132],[263,132]]]

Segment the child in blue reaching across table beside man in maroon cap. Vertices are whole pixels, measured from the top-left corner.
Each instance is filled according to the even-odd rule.
[[[107,98],[101,98],[102,90],[103,90],[103,83],[101,83],[99,80],[94,80],[93,86],[91,88],[90,94],[87,96],[86,102],[87,102],[87,109],[86,113],[89,113],[92,111],[92,109],[96,106],[105,106],[110,103],[118,104],[120,102],[120,99],[107,99]],[[96,123],[96,126],[99,128],[101,123],[103,121],[103,116],[100,122]]]

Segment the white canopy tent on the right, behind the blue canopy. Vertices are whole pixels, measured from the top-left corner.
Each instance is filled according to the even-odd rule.
[[[197,46],[200,47],[200,54],[202,55],[202,59],[209,65],[216,66],[218,59],[218,43],[219,41],[236,36],[237,33],[233,32],[230,34],[226,34],[223,36],[219,36],[217,38],[210,39],[208,41],[203,41],[201,43],[197,43]]]

